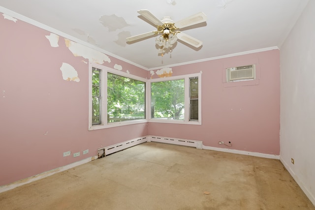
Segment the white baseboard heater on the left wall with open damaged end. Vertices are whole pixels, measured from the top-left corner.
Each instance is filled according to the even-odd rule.
[[[106,155],[115,153],[117,151],[125,150],[127,148],[142,144],[144,142],[147,142],[147,140],[148,140],[148,137],[145,136],[145,137],[132,139],[126,142],[122,142],[116,145],[112,145],[109,147],[98,149],[98,158],[105,157]]]

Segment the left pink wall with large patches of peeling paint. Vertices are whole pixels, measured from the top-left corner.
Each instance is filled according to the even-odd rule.
[[[42,30],[0,14],[0,185],[97,155],[97,149],[147,135],[146,123],[88,131],[88,62],[60,37],[51,47]],[[147,71],[110,58],[131,74]],[[83,60],[83,61],[82,61]],[[65,81],[71,64],[80,82]],[[122,132],[124,130],[124,132]],[[88,154],[82,154],[89,149]],[[63,152],[71,150],[71,156]],[[79,157],[72,153],[81,152]]]

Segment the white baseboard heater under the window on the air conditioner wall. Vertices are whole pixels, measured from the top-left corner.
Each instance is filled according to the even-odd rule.
[[[195,147],[197,149],[202,149],[202,141],[166,138],[166,137],[159,137],[159,136],[150,136],[148,138],[149,138],[148,142],[160,142],[160,143],[182,145],[182,146]]]

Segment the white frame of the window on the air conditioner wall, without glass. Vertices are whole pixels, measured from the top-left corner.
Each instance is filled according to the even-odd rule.
[[[189,97],[189,86],[190,86],[190,78],[198,77],[198,120],[189,120],[190,115],[190,97]],[[164,81],[171,81],[171,80],[185,80],[185,117],[184,120],[165,120],[165,119],[155,119],[151,118],[151,83],[153,82],[164,82]],[[164,77],[164,78],[157,78],[157,79],[150,79],[147,83],[147,92],[148,92],[148,104],[149,111],[147,114],[149,115],[149,122],[158,122],[158,123],[174,123],[174,124],[197,124],[201,125],[201,73],[195,74],[186,74],[186,75],[179,75],[179,76],[172,76],[172,77]],[[186,105],[187,104],[187,105]]]

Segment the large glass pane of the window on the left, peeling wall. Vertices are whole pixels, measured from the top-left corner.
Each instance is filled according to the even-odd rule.
[[[107,73],[107,121],[145,119],[145,82]]]

